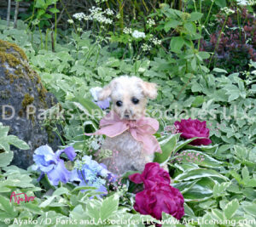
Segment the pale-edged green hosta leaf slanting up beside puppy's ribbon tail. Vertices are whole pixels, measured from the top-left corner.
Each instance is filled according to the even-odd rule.
[[[155,153],[154,162],[163,163],[165,162],[171,155],[175,146],[177,145],[177,139],[179,138],[179,134],[172,135],[171,137],[160,142],[162,153]]]

